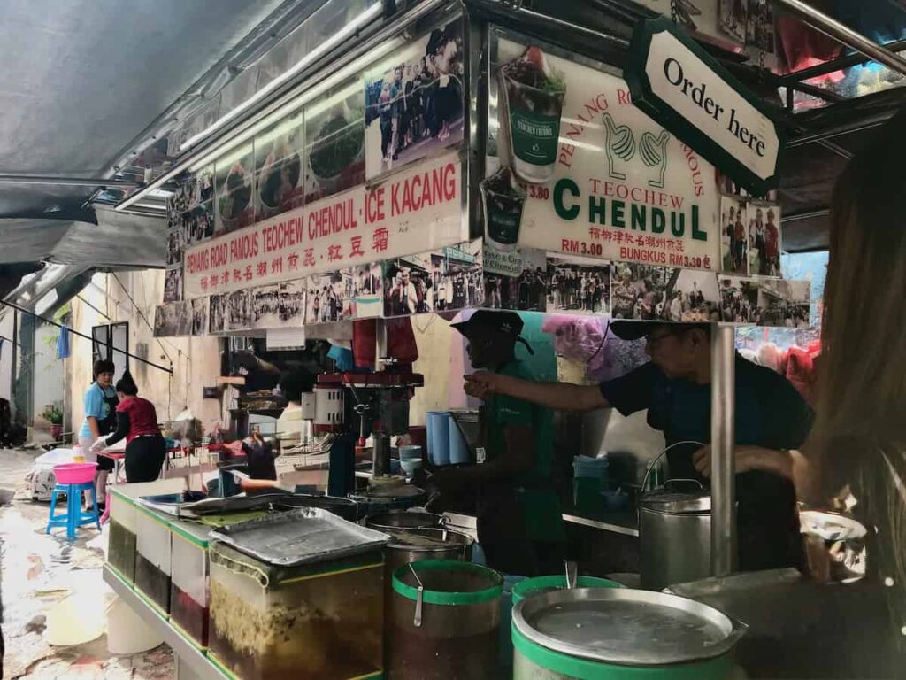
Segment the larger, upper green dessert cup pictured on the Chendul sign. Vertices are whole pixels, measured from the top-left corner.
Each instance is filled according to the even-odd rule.
[[[538,47],[500,67],[513,170],[520,180],[550,180],[557,160],[566,83]]]

